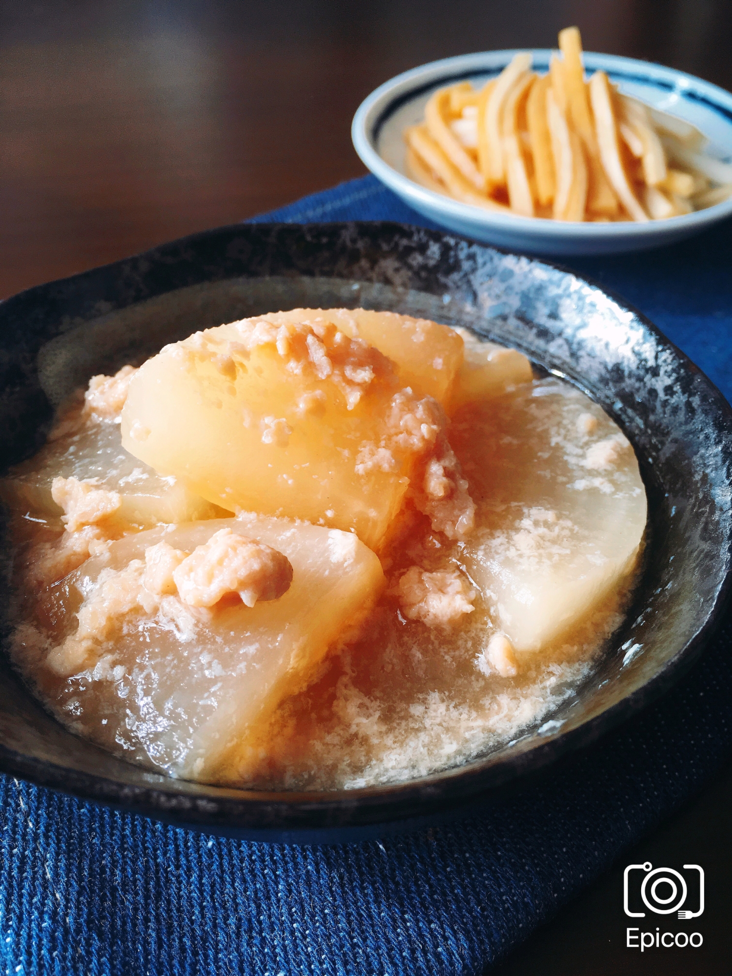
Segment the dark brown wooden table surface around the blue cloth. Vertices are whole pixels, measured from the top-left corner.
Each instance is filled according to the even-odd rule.
[[[0,298],[360,176],[350,119],[378,84],[469,51],[552,47],[571,23],[588,50],[732,88],[729,0],[0,2]],[[691,835],[728,878],[730,799],[727,771],[635,853],[685,858]],[[704,957],[678,960],[691,968],[625,950],[608,928],[619,877],[506,976],[729,971],[721,914]]]

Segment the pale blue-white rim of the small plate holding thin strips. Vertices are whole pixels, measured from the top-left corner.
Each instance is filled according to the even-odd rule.
[[[496,51],[475,52],[457,55],[439,61],[428,61],[418,67],[410,68],[389,78],[368,95],[358,106],[351,123],[351,141],[359,158],[382,183],[386,183],[397,195],[413,200],[417,209],[436,214],[448,214],[455,219],[475,226],[491,227],[497,230],[521,233],[528,239],[531,234],[545,240],[572,237],[580,240],[620,240],[634,242],[647,241],[656,236],[666,236],[666,231],[693,230],[707,224],[723,220],[732,214],[732,196],[712,207],[697,210],[691,214],[665,218],[659,221],[636,223],[623,221],[608,224],[590,224],[579,221],[553,221],[540,217],[522,217],[519,214],[494,213],[472,204],[454,200],[445,194],[428,189],[409,177],[393,169],[382,158],[376,148],[379,132],[388,116],[404,102],[409,102],[423,92],[436,88],[448,81],[468,80],[479,74],[493,70],[498,74],[500,68],[523,51],[532,55],[535,61],[547,61],[555,53],[550,48],[510,48]],[[593,51],[584,52],[585,65],[591,69],[606,70],[608,74],[626,71],[643,71],[645,78],[662,82],[670,92],[693,98],[720,112],[732,125],[732,94],[718,85],[705,81],[696,75],[675,68],[657,64],[654,61],[641,61],[620,55],[606,55]],[[426,80],[426,79],[429,80]]]

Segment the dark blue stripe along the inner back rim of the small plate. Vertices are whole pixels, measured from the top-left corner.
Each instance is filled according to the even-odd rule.
[[[549,70],[549,58],[555,52],[543,48],[530,51],[529,53],[533,57],[534,67],[540,70]],[[469,81],[476,77],[485,79],[495,77],[501,73],[503,67],[508,64],[508,61],[515,54],[518,54],[517,50],[487,51],[483,54],[446,58],[442,61],[431,61],[421,67],[413,68],[411,71],[405,71],[402,74],[396,75],[390,81],[387,81],[386,84],[377,88],[366,102],[373,104],[379,99],[380,95],[384,94],[387,88],[392,88],[398,82],[407,82],[412,76],[421,78],[427,71],[432,77],[429,81],[422,82],[417,87],[403,92],[393,101],[385,105],[371,126],[371,131],[369,132],[370,140],[376,142],[386,120],[406,102],[411,102],[412,99],[418,98],[420,95],[437,86],[457,84],[458,82]],[[723,88],[712,85],[712,82],[704,81],[701,78],[695,77],[693,74],[687,74],[685,71],[676,71],[674,68],[665,67],[661,64],[652,64],[649,61],[637,61],[634,58],[602,55],[591,51],[586,51],[584,57],[587,68],[590,70],[605,70],[608,76],[615,82],[635,82],[636,84],[660,88],[667,92],[674,92],[679,98],[686,99],[688,102],[703,104],[732,123],[732,96]],[[467,58],[473,62],[474,66],[469,69],[464,68],[463,70],[449,71],[452,65],[457,67],[457,63],[465,63]],[[479,60],[482,58],[489,59],[498,66],[486,65],[481,69]],[[439,70],[441,67],[446,69],[445,73]],[[645,70],[641,70],[642,68],[645,68]],[[649,71],[648,68],[652,70]],[[366,102],[363,103],[362,107],[366,106]]]

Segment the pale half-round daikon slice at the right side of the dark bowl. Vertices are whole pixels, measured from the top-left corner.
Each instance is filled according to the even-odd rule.
[[[458,413],[451,441],[476,503],[461,558],[513,649],[540,650],[630,578],[646,521],[632,447],[553,379]]]

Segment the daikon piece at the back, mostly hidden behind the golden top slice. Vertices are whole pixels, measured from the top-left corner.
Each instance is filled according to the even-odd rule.
[[[276,324],[332,322],[346,336],[362,339],[388,356],[396,365],[402,386],[433,396],[444,406],[463,362],[463,344],[457,333],[463,336],[465,330],[427,318],[367,308],[295,308],[262,317]]]

